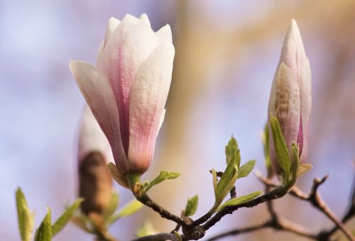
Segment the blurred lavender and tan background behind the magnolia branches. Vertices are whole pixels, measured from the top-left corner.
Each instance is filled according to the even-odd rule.
[[[275,67],[292,18],[302,33],[312,69],[310,123],[312,172],[298,185],[308,191],[316,176],[331,174],[320,189],[341,216],[349,201],[355,158],[355,1],[0,1],[0,240],[19,240],[14,192],[21,186],[35,225],[45,205],[60,215],[77,196],[77,133],[84,99],[68,61],[96,62],[110,16],[147,13],[154,30],[173,29],[176,49],[165,123],[158,136],[151,179],[160,169],[180,172],[178,179],[152,189],[151,196],[180,213],[198,194],[198,217],[214,201],[209,169],[224,169],[224,145],[233,134],[242,162],[263,164],[261,131]],[[116,186],[121,203],[133,196]],[[237,193],[263,190],[251,175]],[[287,218],[315,232],[332,223],[307,203],[275,201]],[[207,232],[261,223],[265,205],[227,215]],[[144,208],[119,220],[111,233],[121,240],[151,220],[156,230],[173,228]],[[238,240],[302,240],[263,230]],[[55,240],[92,240],[70,224]],[[231,237],[226,240],[235,240]]]

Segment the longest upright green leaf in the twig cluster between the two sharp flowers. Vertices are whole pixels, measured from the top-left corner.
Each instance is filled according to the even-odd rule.
[[[241,156],[239,155],[239,150],[234,152],[231,161],[228,163],[224,174],[217,184],[217,196],[216,202],[220,203],[223,201],[225,196],[229,193],[231,188],[234,186],[236,179],[238,178],[238,163],[241,162]]]

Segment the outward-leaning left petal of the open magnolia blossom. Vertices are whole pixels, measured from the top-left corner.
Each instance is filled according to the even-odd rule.
[[[70,70],[77,80],[87,104],[109,140],[115,162],[122,173],[128,172],[126,155],[121,142],[119,113],[114,93],[104,74],[87,62],[70,61]]]

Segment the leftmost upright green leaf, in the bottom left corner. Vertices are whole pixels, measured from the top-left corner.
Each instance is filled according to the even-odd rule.
[[[21,191],[21,188],[18,188],[16,191],[16,208],[21,240],[29,241],[32,238],[34,215],[28,208],[25,195]]]

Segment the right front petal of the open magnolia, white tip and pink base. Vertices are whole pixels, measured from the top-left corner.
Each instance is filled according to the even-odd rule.
[[[146,172],[153,158],[155,140],[164,111],[174,47],[162,44],[139,67],[131,86],[129,126],[129,169]]]

